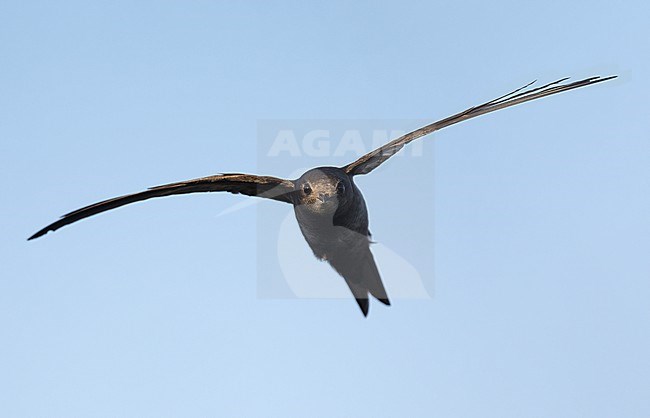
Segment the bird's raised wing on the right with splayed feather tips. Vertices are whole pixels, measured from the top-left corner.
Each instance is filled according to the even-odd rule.
[[[561,80],[554,81],[552,83],[546,84],[541,87],[531,88],[532,83],[518,88],[508,94],[505,94],[501,97],[497,97],[494,100],[483,103],[478,106],[471,107],[467,110],[464,110],[455,115],[449,116],[445,119],[434,122],[430,125],[424,126],[420,129],[417,129],[413,132],[409,132],[406,135],[403,135],[371,152],[359,158],[358,160],[341,167],[346,173],[351,176],[358,174],[368,174],[375,168],[377,168],[381,163],[392,157],[399,150],[401,150],[404,145],[408,144],[411,141],[415,141],[418,138],[421,138],[425,135],[428,135],[434,131],[437,131],[447,126],[454,125],[456,123],[471,119],[486,113],[494,112],[496,110],[505,109],[506,107],[518,105],[520,103],[525,103],[530,100],[539,99],[545,96],[550,96],[552,94],[561,93],[563,91],[573,90],[579,87],[589,86],[592,84],[600,83],[602,81],[611,80],[616,78],[616,76],[611,77],[590,77],[584,80],[575,81],[573,83],[561,84],[568,78],[563,78]],[[523,91],[522,91],[523,90]]]

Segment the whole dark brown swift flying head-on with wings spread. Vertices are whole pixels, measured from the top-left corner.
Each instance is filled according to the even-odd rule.
[[[300,231],[316,258],[328,262],[347,283],[364,316],[369,295],[390,305],[379,270],[370,251],[368,211],[354,177],[368,174],[406,144],[434,131],[496,110],[552,94],[590,86],[610,77],[590,77],[565,83],[568,78],[532,88],[529,83],[489,102],[471,107],[407,133],[343,167],[317,167],[296,180],[252,174],[219,174],[149,188],[143,192],[104,200],[63,215],[29,240],[81,219],[129,203],[178,194],[230,192],[272,199],[293,205]]]

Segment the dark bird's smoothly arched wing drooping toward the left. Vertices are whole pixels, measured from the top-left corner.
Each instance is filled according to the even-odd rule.
[[[96,215],[107,210],[115,209],[129,203],[151,199],[152,197],[171,196],[175,194],[202,193],[202,192],[230,192],[247,196],[264,197],[286,203],[293,203],[292,192],[294,184],[290,180],[269,176],[255,176],[251,174],[220,174],[216,176],[201,177],[198,179],[181,181],[151,187],[143,192],[128,194],[104,200],[74,212],[63,215],[58,221],[46,226],[28,239],[38,238],[49,231],[69,225],[78,220]]]

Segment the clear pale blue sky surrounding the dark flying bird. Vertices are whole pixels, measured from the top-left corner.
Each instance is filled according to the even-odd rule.
[[[2,2],[0,415],[650,416],[649,15],[642,1]],[[610,74],[359,179],[374,238],[431,296],[368,318],[350,298],[260,295],[282,279],[277,248],[258,254],[290,213],[276,202],[218,216],[246,198],[151,200],[25,240],[148,186],[312,165],[261,161],[261,120],[416,128],[536,78]],[[305,281],[327,272],[310,263]]]

